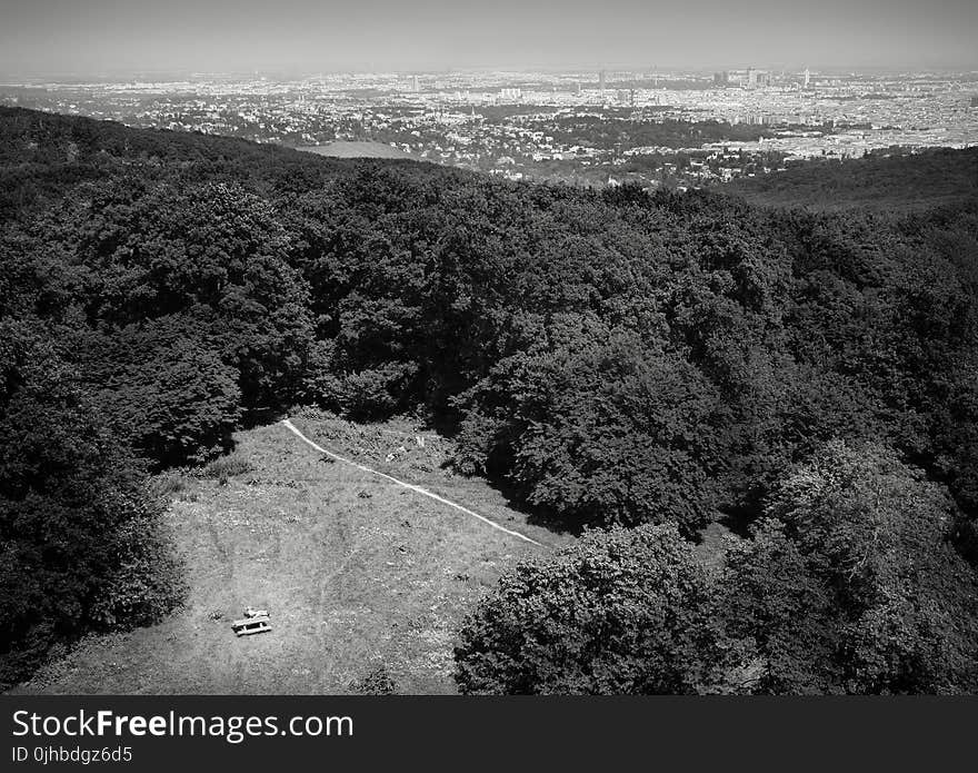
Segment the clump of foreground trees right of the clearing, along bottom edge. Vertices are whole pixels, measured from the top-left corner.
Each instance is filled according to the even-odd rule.
[[[790,472],[710,574],[671,527],[522,564],[469,616],[467,693],[978,690],[978,578],[939,486],[874,445]]]

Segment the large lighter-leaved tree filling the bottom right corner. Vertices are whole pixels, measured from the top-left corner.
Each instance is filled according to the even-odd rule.
[[[940,486],[872,444],[832,442],[778,486],[732,551],[718,611],[757,692],[978,688],[978,579]]]

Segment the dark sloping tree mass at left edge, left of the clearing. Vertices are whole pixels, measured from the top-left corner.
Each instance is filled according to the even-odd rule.
[[[0,323],[0,685],[182,594],[144,472],[29,323]]]

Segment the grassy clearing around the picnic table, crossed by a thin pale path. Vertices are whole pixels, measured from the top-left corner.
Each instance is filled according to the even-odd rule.
[[[441,469],[445,439],[429,434],[421,447],[405,423],[292,422],[331,450],[548,546],[571,539],[528,524],[486,483]],[[321,457],[276,424],[240,433],[216,477],[170,478],[184,608],[91,636],[12,692],[343,693],[381,664],[400,692],[455,692],[451,651],[466,611],[503,569],[549,551]],[[230,622],[249,605],[269,610],[273,628],[237,638]]]

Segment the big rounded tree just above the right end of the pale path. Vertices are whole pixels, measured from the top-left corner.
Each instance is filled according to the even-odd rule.
[[[706,524],[717,405],[701,375],[587,318],[548,334],[472,393],[461,434],[470,464],[569,526],[671,521],[692,534]]]

